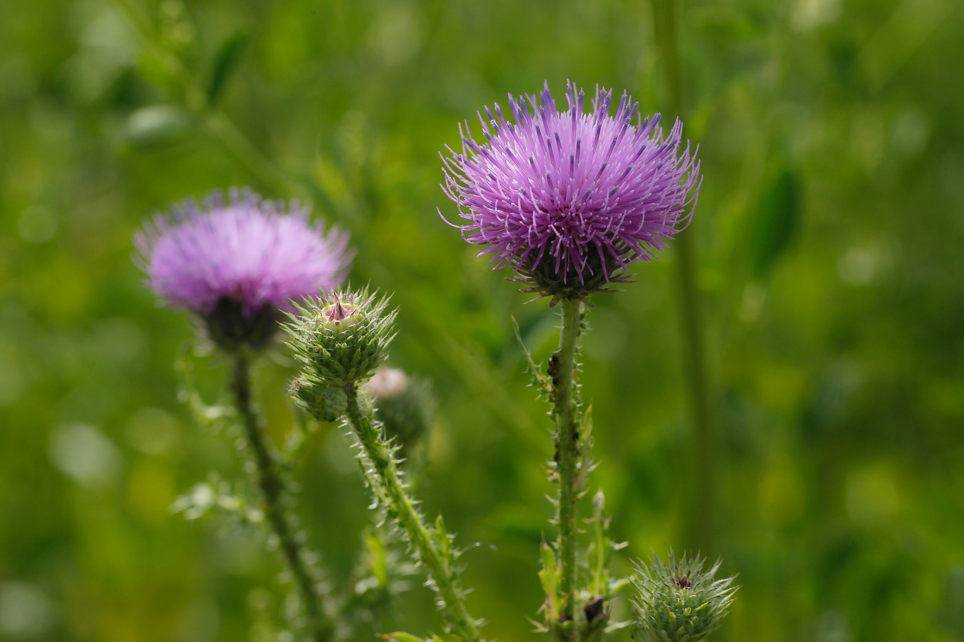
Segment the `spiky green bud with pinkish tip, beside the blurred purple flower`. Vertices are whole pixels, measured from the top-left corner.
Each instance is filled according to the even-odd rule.
[[[376,298],[367,289],[334,292],[327,298],[308,297],[296,308],[284,330],[308,388],[311,382],[341,388],[365,381],[388,356],[396,313],[388,310],[388,297]],[[319,393],[325,392],[308,392],[315,399]]]

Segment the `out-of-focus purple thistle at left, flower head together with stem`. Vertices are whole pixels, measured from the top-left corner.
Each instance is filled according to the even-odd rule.
[[[295,624],[314,642],[331,640],[331,600],[290,510],[293,494],[279,453],[254,407],[251,366],[292,298],[341,281],[350,260],[347,235],[325,234],[296,204],[284,211],[250,191],[233,191],[228,201],[215,193],[202,205],[188,201],[171,216],[155,217],[136,241],[150,288],[171,307],[195,314],[231,361],[230,389],[262,512],[298,591]]]

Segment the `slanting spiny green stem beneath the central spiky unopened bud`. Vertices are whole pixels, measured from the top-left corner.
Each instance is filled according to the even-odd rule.
[[[464,642],[480,642],[482,638],[478,626],[466,607],[465,591],[452,568],[448,535],[440,533],[444,541],[433,537],[424,518],[415,508],[415,500],[408,495],[381,423],[374,420],[370,413],[362,412],[358,388],[348,384],[345,392],[348,395],[348,423],[367,459],[367,466],[362,466],[362,471],[372,492],[384,504],[388,515],[408,535],[415,554],[435,583],[452,633]]]

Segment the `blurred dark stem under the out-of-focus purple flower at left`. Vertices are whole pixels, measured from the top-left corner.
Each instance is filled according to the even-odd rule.
[[[234,356],[231,391],[241,416],[245,440],[254,459],[257,486],[264,502],[265,516],[278,537],[281,553],[298,587],[308,618],[310,639],[312,642],[329,642],[335,637],[335,625],[325,608],[324,596],[318,590],[315,572],[308,562],[307,550],[295,534],[292,517],[283,505],[289,490],[279,470],[278,456],[264,435],[260,418],[254,413],[251,364],[245,355]]]

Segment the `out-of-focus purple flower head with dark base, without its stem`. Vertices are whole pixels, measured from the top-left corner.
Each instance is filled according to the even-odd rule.
[[[348,271],[348,235],[327,233],[292,202],[233,190],[212,193],[157,216],[136,236],[147,284],[174,308],[207,322],[222,347],[274,334],[291,300],[337,286]]]

